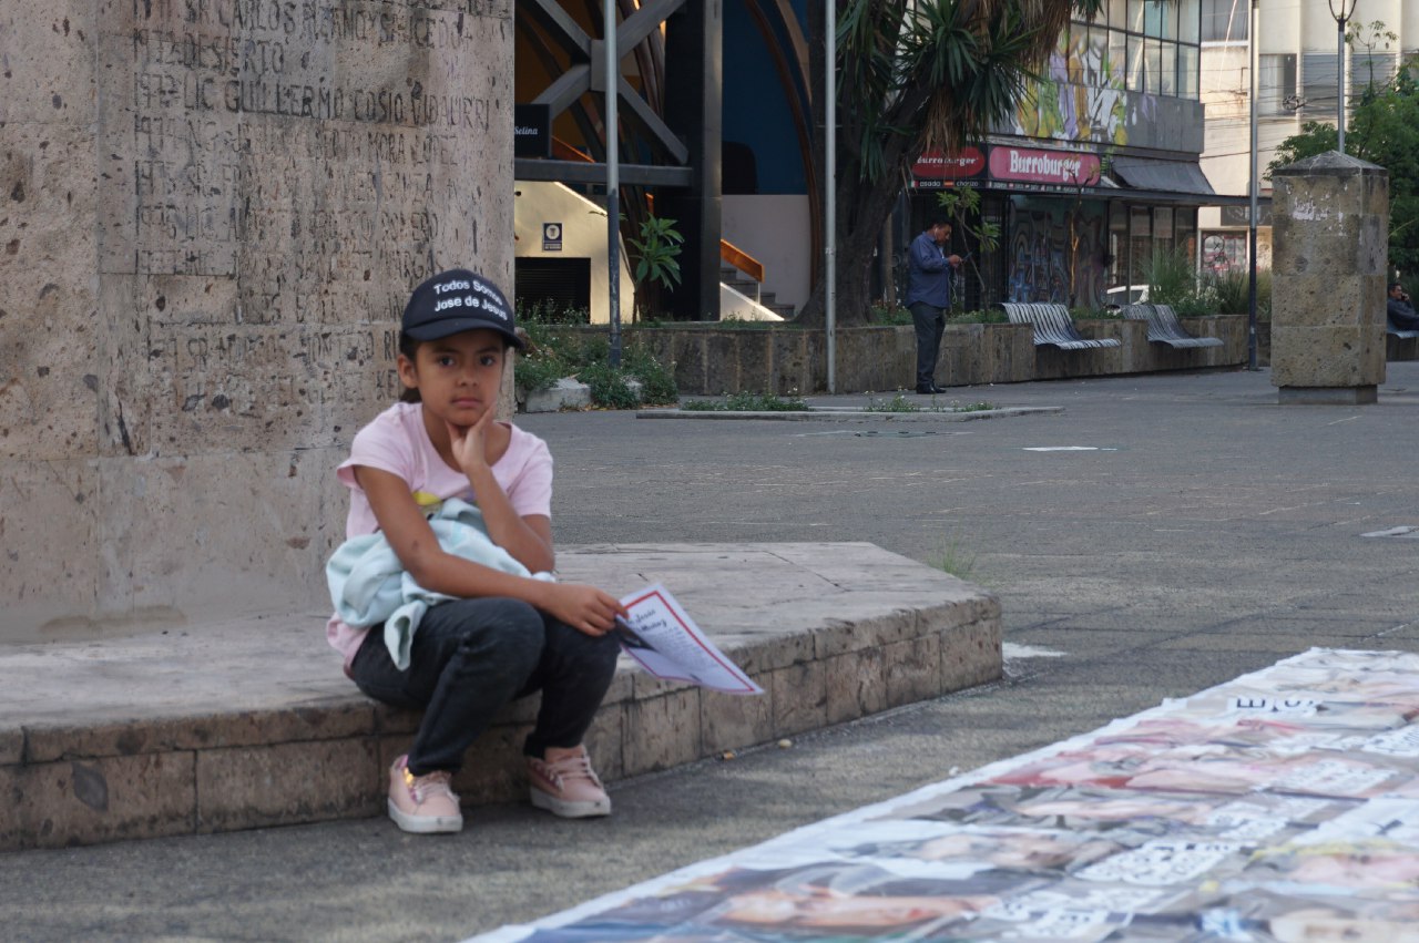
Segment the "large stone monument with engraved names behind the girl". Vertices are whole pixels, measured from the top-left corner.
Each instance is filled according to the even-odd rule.
[[[0,642],[328,607],[424,277],[512,289],[512,0],[7,0]]]

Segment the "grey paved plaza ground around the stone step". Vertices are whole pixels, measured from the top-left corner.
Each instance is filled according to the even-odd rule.
[[[1419,526],[1419,363],[1391,364],[1371,407],[1279,407],[1267,374],[1244,372],[941,398],[1064,413],[524,424],[558,458],[562,543],[871,540],[973,560],[1009,651],[1036,652],[1007,681],[620,784],[599,822],[505,807],[448,839],[370,820],[0,855],[3,936],[457,940],[1311,645],[1419,651],[1419,540],[1361,536]],[[849,401],[861,397],[834,400]],[[1040,447],[1098,451],[1026,451]]]

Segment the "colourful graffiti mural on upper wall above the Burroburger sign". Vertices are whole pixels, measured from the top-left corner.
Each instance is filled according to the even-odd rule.
[[[1103,41],[1064,31],[1040,81],[1020,99],[1013,132],[1122,146],[1131,128],[1156,119],[1156,96],[1127,91],[1124,62],[1112,61]]]

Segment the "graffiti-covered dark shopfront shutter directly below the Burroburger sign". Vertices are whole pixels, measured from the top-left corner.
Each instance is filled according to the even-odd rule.
[[[1103,303],[1108,282],[1104,206],[1084,203],[1077,208],[1039,207],[1040,204],[1016,207],[1012,217],[1010,275],[1006,286],[1009,301],[1087,306]]]

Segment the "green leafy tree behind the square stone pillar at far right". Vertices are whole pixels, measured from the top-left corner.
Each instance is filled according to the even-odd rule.
[[[1277,147],[1267,179],[1277,167],[1334,150],[1335,140],[1332,125],[1305,122]],[[1408,67],[1361,94],[1345,128],[1345,153],[1389,170],[1389,264],[1419,269],[1419,82]]]

